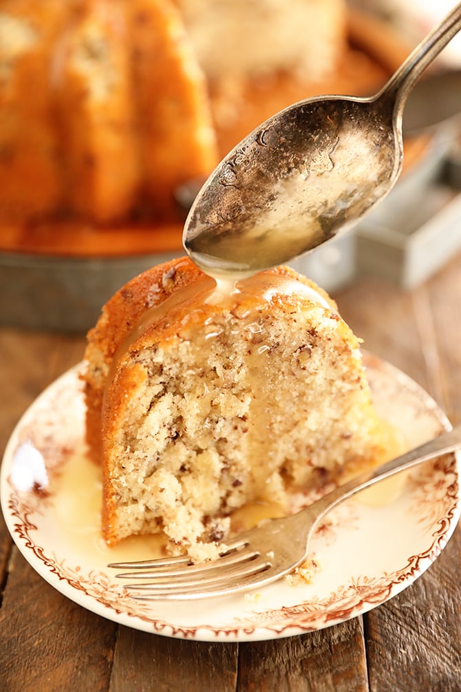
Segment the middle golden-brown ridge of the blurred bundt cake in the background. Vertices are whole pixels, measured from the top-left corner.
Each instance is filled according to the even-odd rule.
[[[67,206],[98,223],[131,212],[140,189],[126,10],[86,1],[55,69]]]

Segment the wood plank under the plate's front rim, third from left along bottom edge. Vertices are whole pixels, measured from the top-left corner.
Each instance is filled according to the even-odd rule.
[[[238,690],[368,691],[361,618],[301,637],[241,644]]]

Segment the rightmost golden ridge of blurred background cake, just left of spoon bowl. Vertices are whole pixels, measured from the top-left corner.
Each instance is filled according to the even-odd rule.
[[[174,3],[127,6],[144,193],[158,214],[174,215],[178,186],[218,163],[205,75]]]

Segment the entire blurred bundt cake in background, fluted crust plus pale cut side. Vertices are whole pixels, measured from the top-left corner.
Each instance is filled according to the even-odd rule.
[[[182,183],[335,71],[345,7],[3,0],[0,225],[182,219]]]

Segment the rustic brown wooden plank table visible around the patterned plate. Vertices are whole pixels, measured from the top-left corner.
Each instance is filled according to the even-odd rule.
[[[337,296],[365,346],[461,422],[461,256],[405,293],[364,278]],[[0,329],[0,444],[37,394],[82,358],[84,336]],[[459,692],[461,529],[411,587],[364,617],[279,641],[149,635],[68,601],[0,525],[0,689],[178,692]]]

